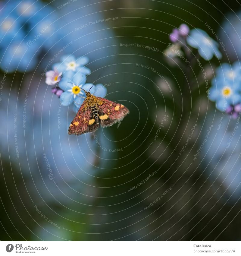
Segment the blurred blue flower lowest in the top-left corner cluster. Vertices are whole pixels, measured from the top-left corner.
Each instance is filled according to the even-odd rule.
[[[26,42],[14,41],[4,52],[0,67],[9,72],[18,70],[20,72],[31,71],[37,64],[36,48],[29,48]]]

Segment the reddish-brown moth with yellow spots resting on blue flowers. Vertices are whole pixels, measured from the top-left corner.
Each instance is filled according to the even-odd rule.
[[[83,91],[86,98],[69,126],[69,134],[80,135],[96,131],[100,126],[111,126],[130,113],[122,104]]]

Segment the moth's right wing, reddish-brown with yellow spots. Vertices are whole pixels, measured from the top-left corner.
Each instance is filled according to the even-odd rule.
[[[120,103],[100,97],[96,98],[103,101],[103,104],[98,106],[99,120],[102,127],[111,126],[130,113],[129,109]]]

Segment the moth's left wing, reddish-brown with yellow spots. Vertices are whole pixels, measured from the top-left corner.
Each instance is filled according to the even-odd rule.
[[[91,109],[84,111],[85,104],[83,103],[77,112],[74,120],[69,126],[69,134],[81,135],[86,132],[92,132],[97,130],[99,125],[96,124],[96,120],[93,117]]]

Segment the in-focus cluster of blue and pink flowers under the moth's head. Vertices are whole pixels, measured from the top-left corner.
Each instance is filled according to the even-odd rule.
[[[81,89],[98,97],[104,97],[107,91],[103,84],[86,83],[86,75],[90,74],[89,68],[85,67],[88,61],[87,57],[76,59],[74,55],[64,55],[61,62],[55,63],[53,70],[45,74],[45,83],[54,86],[52,93],[60,98],[61,105],[73,105],[74,112],[84,101],[85,93]]]

